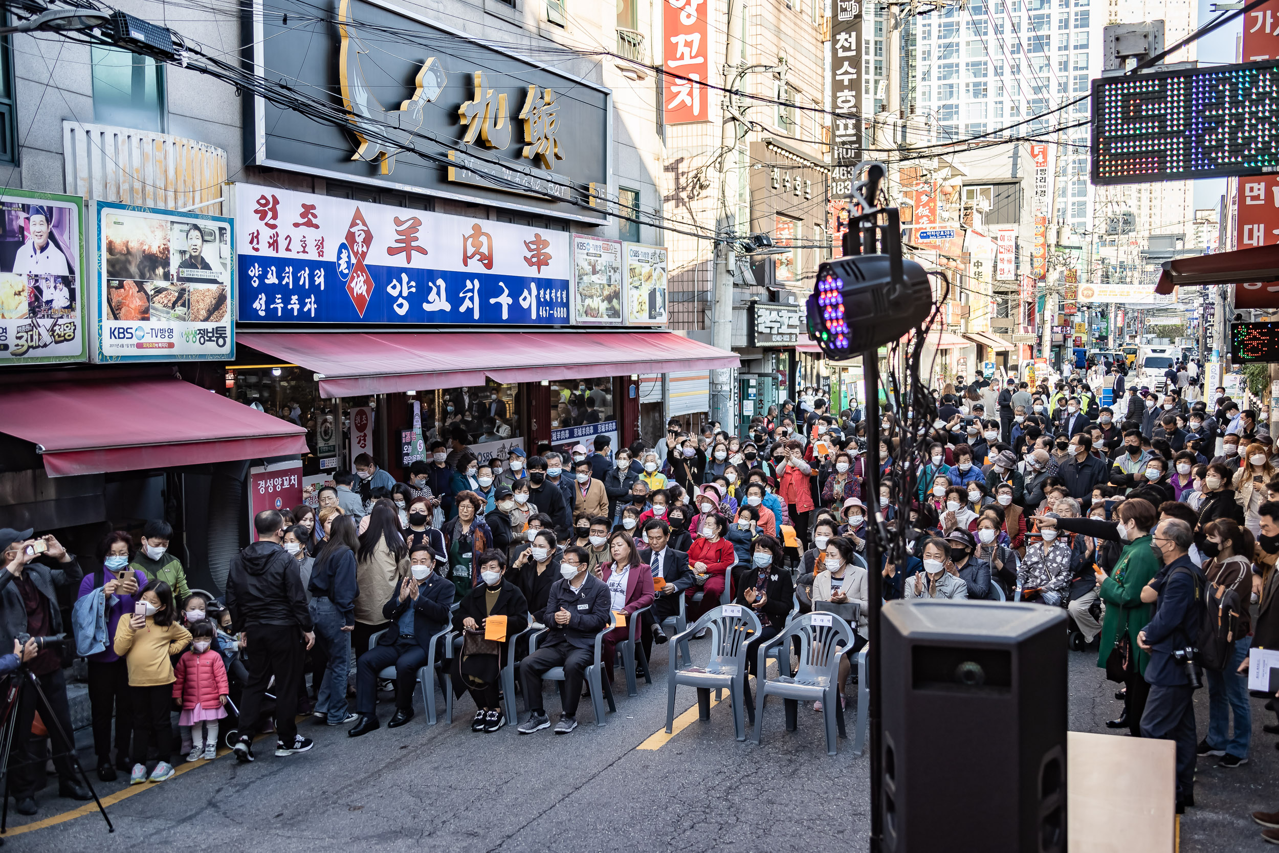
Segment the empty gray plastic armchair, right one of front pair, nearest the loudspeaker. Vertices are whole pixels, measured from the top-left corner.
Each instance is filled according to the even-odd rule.
[[[779,645],[789,646],[792,637],[799,638],[799,669],[794,675],[767,678],[769,650]],[[836,755],[836,732],[842,728],[843,716],[839,707],[839,659],[852,647],[853,629],[833,613],[804,614],[776,637],[760,643],[755,680],[755,743],[760,743],[764,730],[764,703],[769,696],[785,700],[788,732],[794,732],[798,725],[801,701],[821,700],[821,714],[826,723],[826,755]]]

